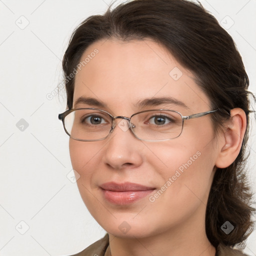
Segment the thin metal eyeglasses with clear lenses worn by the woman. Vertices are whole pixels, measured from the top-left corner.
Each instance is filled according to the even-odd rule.
[[[169,109],[144,110],[132,114],[130,117],[112,116],[105,110],[97,108],[68,109],[58,115],[63,123],[65,132],[73,139],[80,141],[96,141],[105,139],[118,126],[128,129],[138,139],[145,141],[163,141],[178,137],[183,129],[183,121],[197,118],[218,109],[183,116],[181,113]]]

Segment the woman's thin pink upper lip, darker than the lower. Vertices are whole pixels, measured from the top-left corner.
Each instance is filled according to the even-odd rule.
[[[140,191],[140,190],[149,190],[154,189],[154,187],[144,186],[137,183],[124,182],[124,183],[116,183],[116,182],[107,182],[100,185],[104,190],[110,191]]]

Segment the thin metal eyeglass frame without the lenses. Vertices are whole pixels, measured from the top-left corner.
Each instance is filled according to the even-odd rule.
[[[109,130],[109,133],[108,133],[105,137],[99,138],[99,139],[78,139],[78,138],[73,138],[73,137],[71,137],[71,135],[67,132],[67,130],[66,130],[66,128],[65,128],[64,119],[65,119],[65,117],[66,117],[69,113],[71,113],[71,112],[73,112],[73,111],[75,111],[75,110],[79,110],[79,109],[99,110],[99,111],[102,111],[102,112],[108,114],[108,115],[112,118],[111,129]],[[126,117],[126,116],[122,116],[122,115],[112,116],[112,115],[111,115],[110,113],[108,113],[107,111],[102,110],[102,109],[99,109],[99,108],[84,107],[84,108],[76,108],[76,109],[75,109],[75,108],[67,109],[67,110],[64,111],[63,113],[58,114],[58,119],[62,121],[62,124],[63,124],[63,127],[64,127],[64,130],[65,130],[66,134],[67,134],[69,137],[71,137],[71,138],[73,138],[73,139],[75,139],[75,140],[79,140],[79,141],[97,141],[97,140],[103,140],[103,139],[107,138],[107,137],[109,136],[109,134],[113,131],[113,129],[115,128],[115,126],[116,126],[116,122],[113,122],[116,118],[122,118],[122,119],[127,120],[127,121],[128,121],[128,124],[129,124],[129,129],[131,130],[132,134],[133,134],[136,138],[138,138],[138,139],[140,139],[140,140],[143,140],[143,141],[164,141],[164,140],[174,139],[174,138],[165,138],[165,139],[156,139],[156,140],[154,140],[154,139],[141,139],[141,138],[137,137],[136,134],[133,132],[132,127],[134,127],[134,124],[130,123],[130,118],[131,118],[133,115],[139,114],[139,113],[143,113],[143,112],[148,112],[148,111],[159,111],[159,110],[172,111],[172,112],[178,113],[178,114],[181,116],[181,118],[182,118],[181,130],[180,130],[180,133],[179,133],[176,137],[174,137],[174,138],[177,138],[177,137],[182,133],[184,120],[188,120],[188,119],[192,119],[192,118],[197,118],[197,117],[204,116],[204,115],[206,115],[206,114],[209,114],[209,113],[212,113],[212,112],[215,112],[215,111],[219,110],[219,108],[218,108],[218,109],[215,109],[215,110],[210,110],[210,111],[201,112],[201,113],[196,113],[196,114],[191,114],[191,115],[184,115],[184,116],[183,116],[181,113],[179,113],[179,112],[177,112],[177,111],[175,111],[175,110],[171,110],[171,109],[163,109],[163,108],[162,108],[162,109],[149,109],[149,110],[144,110],[144,111],[136,112],[136,113],[132,114],[130,117]]]

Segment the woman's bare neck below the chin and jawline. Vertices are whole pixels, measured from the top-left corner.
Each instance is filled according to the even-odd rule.
[[[209,242],[204,221],[200,219],[204,220],[201,215],[198,217],[198,214],[194,214],[165,232],[147,237],[136,234],[117,237],[109,234],[111,256],[214,256],[215,247]]]

